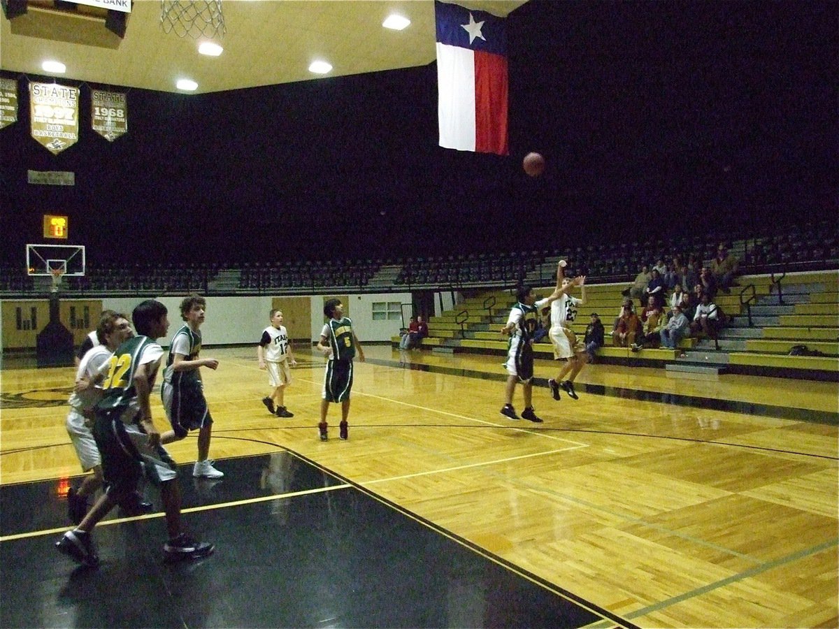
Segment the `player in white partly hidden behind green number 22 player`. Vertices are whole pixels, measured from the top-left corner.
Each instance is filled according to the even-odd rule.
[[[85,476],[77,489],[71,486],[67,492],[67,512],[70,520],[76,524],[85,517],[88,497],[102,486],[102,457],[91,430],[93,407],[102,398],[102,389],[95,387],[92,381],[120,343],[134,334],[128,318],[113,310],[106,310],[102,314],[94,333],[96,345],[91,345],[91,349],[81,357],[76,370],[78,386],[70,394],[70,413],[67,413],[65,421],[67,434],[70,435],[70,442],[76,449],[81,469],[91,472]]]

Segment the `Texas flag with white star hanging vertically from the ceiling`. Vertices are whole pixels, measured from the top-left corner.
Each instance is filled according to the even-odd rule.
[[[508,154],[503,18],[435,2],[440,146]]]

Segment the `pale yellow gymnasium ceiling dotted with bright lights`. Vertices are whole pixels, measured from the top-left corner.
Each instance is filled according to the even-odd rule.
[[[467,8],[506,16],[526,0],[461,0]],[[195,93],[317,80],[315,59],[333,69],[325,76],[354,75],[427,65],[435,60],[432,0],[222,0],[227,34],[214,41],[224,52],[197,52],[205,38],[164,33],[161,3],[135,0],[124,38],[105,28],[97,9],[79,5],[74,14],[56,12],[52,0],[29,0],[29,10],[0,18],[0,69],[50,75],[44,60],[66,65],[72,81],[179,91],[175,81],[198,83]],[[81,15],[80,15],[81,13]],[[390,13],[411,20],[407,29],[384,29]],[[100,13],[104,15],[104,13]],[[61,39],[82,39],[70,43]]]

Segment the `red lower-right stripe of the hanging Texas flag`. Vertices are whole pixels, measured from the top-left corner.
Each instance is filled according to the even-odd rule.
[[[507,57],[475,51],[475,150],[507,155]]]

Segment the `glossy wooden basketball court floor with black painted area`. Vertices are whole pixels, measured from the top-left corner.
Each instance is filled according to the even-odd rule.
[[[350,439],[317,439],[323,359],[298,347],[268,415],[255,350],[206,348],[221,481],[180,463],[186,525],[216,543],[161,560],[159,513],[96,528],[102,566],[55,552],[78,463],[73,370],[6,360],[0,625],[832,627],[835,382],[587,366],[544,424],[498,413],[499,356],[366,347]],[[159,398],[155,420],[165,426]],[[522,408],[517,390],[516,408]],[[151,487],[146,495],[159,508]]]

